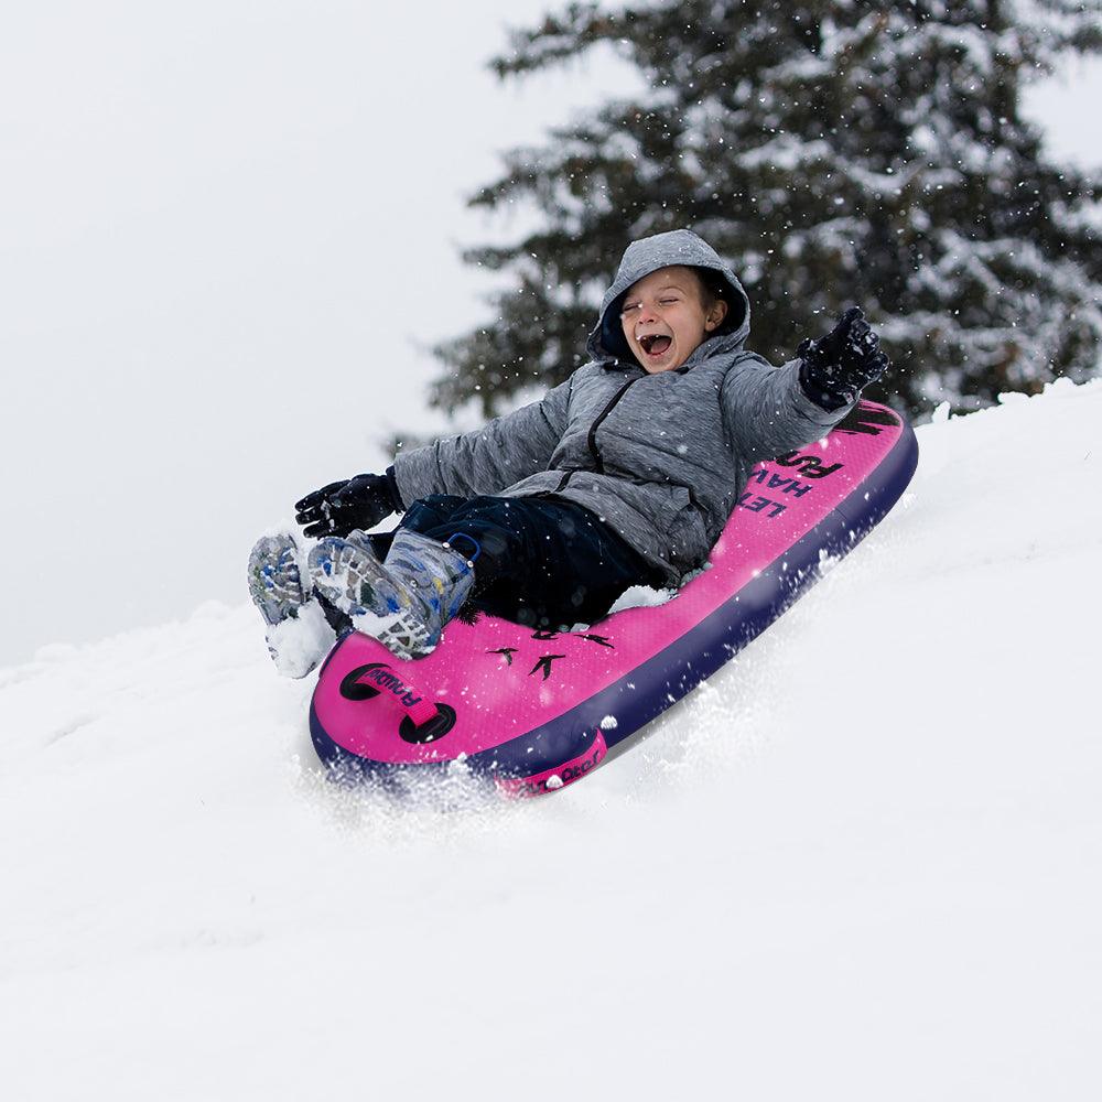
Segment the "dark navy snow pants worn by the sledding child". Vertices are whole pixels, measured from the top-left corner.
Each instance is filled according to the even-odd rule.
[[[467,604],[530,627],[592,624],[628,586],[666,584],[658,569],[596,514],[564,498],[434,494],[414,501],[399,527],[441,543],[457,533],[477,540]],[[387,545],[389,537],[379,551]],[[455,549],[473,551],[463,540]]]

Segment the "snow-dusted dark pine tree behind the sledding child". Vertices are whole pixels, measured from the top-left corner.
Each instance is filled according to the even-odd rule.
[[[912,412],[1096,371],[1102,177],[1051,163],[1023,87],[1102,50],[1102,3],[677,0],[572,3],[514,32],[503,78],[607,43],[647,91],[505,155],[472,198],[540,228],[467,250],[511,284],[442,344],[433,403],[494,413],[580,363],[633,238],[687,226],[739,271],[752,347],[780,361],[849,303]],[[1092,225],[1091,218],[1095,218]]]

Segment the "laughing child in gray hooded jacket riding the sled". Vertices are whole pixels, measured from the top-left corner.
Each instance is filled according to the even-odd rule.
[[[781,368],[744,349],[748,333],[746,292],[700,237],[634,242],[565,382],[304,497],[296,520],[321,537],[305,582],[291,537],[257,544],[250,590],[277,663],[303,676],[324,657],[322,613],[417,658],[464,607],[554,629],[599,619],[628,586],[676,586],[750,468],[825,435],[887,367],[855,307]],[[402,511],[380,561],[386,538],[365,530]],[[288,648],[296,619],[313,641]]]

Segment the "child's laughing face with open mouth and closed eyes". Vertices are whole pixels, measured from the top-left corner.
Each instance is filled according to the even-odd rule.
[[[628,288],[620,324],[635,358],[656,375],[680,367],[726,313],[723,301],[706,310],[700,277],[677,264]]]

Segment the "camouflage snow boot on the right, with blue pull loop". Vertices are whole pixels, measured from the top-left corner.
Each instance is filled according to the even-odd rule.
[[[461,554],[454,540],[473,544],[473,557]],[[368,547],[360,532],[323,539],[310,552],[311,583],[352,617],[357,631],[374,636],[393,655],[428,655],[471,592],[477,542],[456,533],[440,543],[399,528],[383,562]]]

